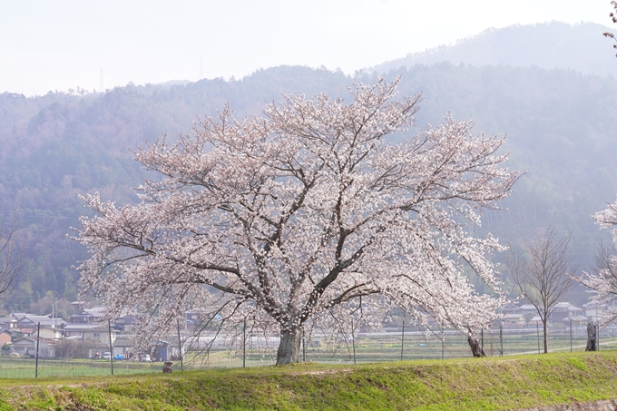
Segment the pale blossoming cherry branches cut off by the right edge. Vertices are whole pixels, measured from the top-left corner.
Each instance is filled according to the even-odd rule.
[[[593,219],[601,228],[612,228],[612,240],[617,244],[617,201],[609,203],[606,210],[593,214]],[[583,279],[579,279],[585,286],[593,291],[593,300],[598,304],[606,304],[602,312],[604,325],[617,319],[617,255],[614,248],[602,246],[596,255],[596,264],[593,273],[585,273]]]

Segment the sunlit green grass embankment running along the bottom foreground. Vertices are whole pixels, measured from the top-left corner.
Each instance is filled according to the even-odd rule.
[[[0,382],[0,410],[498,410],[617,398],[617,352]]]

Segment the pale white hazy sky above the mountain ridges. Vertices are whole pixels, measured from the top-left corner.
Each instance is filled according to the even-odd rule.
[[[0,93],[100,90],[102,70],[104,88],[280,64],[353,73],[488,27],[611,25],[611,11],[609,0],[0,0]]]

